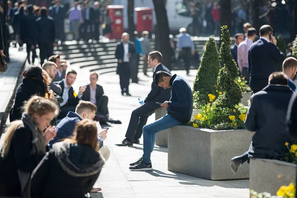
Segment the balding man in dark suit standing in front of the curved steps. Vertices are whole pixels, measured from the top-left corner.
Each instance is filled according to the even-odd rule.
[[[128,33],[122,34],[122,41],[119,42],[115,49],[115,58],[118,59],[118,66],[116,74],[120,76],[120,86],[122,95],[131,96],[129,93],[130,84],[130,61],[133,54],[136,52],[134,43],[129,41],[130,35]]]

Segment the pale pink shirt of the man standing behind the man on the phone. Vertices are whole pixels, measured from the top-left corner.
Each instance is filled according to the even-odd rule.
[[[247,39],[241,42],[237,49],[237,63],[240,71],[243,71],[243,68],[248,68],[248,50],[253,44],[251,39]]]

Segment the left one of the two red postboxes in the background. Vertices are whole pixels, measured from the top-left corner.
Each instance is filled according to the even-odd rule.
[[[113,23],[111,24],[112,37],[110,39],[121,39],[124,32],[124,19],[123,19],[123,5],[107,5],[109,9],[109,16]]]

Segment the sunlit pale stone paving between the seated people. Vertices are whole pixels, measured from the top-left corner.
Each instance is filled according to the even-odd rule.
[[[78,68],[75,68],[78,70]],[[186,76],[185,71],[174,71],[193,87],[197,70]],[[89,72],[78,72],[74,89],[88,83]],[[123,97],[120,93],[119,78],[114,73],[99,76],[99,84],[109,98],[110,117],[119,119],[123,124],[112,124],[108,130],[104,145],[111,150],[110,158],[105,163],[96,187],[101,193],[91,194],[92,198],[248,198],[248,180],[208,181],[167,170],[167,148],[155,146],[151,155],[153,171],[129,171],[129,163],[136,161],[143,153],[143,140],[134,147],[117,147],[125,136],[133,109],[138,107],[138,97],[145,99],[150,91],[150,77],[139,74],[139,84],[130,84],[132,97]],[[154,114],[148,123],[154,121]]]

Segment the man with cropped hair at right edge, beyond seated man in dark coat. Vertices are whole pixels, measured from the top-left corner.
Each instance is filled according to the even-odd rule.
[[[294,57],[288,57],[283,62],[283,72],[288,77],[288,86],[295,92],[296,85],[293,82],[293,79],[297,73],[297,59]]]

